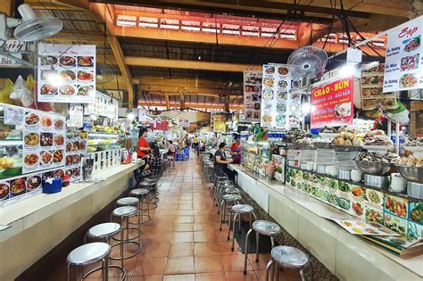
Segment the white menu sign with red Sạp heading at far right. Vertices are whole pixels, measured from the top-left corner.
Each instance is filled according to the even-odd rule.
[[[387,34],[383,92],[423,88],[423,16]]]

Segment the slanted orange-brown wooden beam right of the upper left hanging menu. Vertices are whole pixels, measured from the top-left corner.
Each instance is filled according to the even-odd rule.
[[[111,34],[112,29],[114,26],[114,12],[113,7],[110,4],[91,4],[90,9],[92,11],[93,17],[99,22],[99,26],[101,29],[104,29],[104,26],[101,23],[105,23],[105,28],[107,29],[107,33]],[[128,89],[128,106],[133,107],[135,103],[135,92],[134,92],[134,84],[132,83],[132,75],[129,72],[128,65],[125,63],[125,57],[123,55],[122,48],[120,47],[120,43],[117,37],[113,35],[107,35],[107,42],[112,48],[112,53],[114,58],[116,59],[116,63],[119,66],[120,72],[122,73],[123,78],[126,81],[127,89]]]

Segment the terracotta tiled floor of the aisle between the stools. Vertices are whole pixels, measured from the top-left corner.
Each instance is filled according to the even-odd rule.
[[[152,220],[143,225],[145,249],[125,260],[127,280],[265,280],[270,255],[262,254],[259,263],[251,255],[247,274],[243,274],[244,255],[230,251],[228,226],[219,230],[219,215],[208,186],[194,157],[177,162],[176,170],[161,178],[158,208],[151,211]],[[120,279],[115,276],[109,279]],[[286,269],[279,278],[300,279]]]

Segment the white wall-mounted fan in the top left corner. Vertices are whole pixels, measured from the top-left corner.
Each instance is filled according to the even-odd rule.
[[[18,11],[22,20],[9,18],[0,12],[0,39],[15,37],[23,42],[37,41],[50,37],[62,30],[62,21],[55,17],[37,17],[28,4],[21,4]]]

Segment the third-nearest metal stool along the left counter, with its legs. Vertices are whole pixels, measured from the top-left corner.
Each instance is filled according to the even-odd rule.
[[[137,227],[129,227],[129,218],[135,217],[137,215],[138,215],[138,226]],[[122,226],[122,232],[125,233],[125,231],[126,231],[126,238],[123,238],[123,243],[122,243],[122,241],[120,241],[120,243],[122,243],[122,244],[136,244],[137,245],[137,252],[135,252],[135,253],[133,253],[129,256],[126,256],[126,257],[120,256],[119,258],[115,258],[115,259],[127,260],[129,258],[136,256],[139,252],[141,252],[143,250],[143,246],[141,244],[141,235],[143,233],[143,231],[141,229],[141,221],[140,221],[141,216],[139,215],[139,211],[138,211],[137,207],[122,206],[122,207],[116,208],[112,211],[111,220],[113,221],[113,219],[116,219],[116,218],[120,218],[120,225]],[[137,229],[137,236],[129,238],[129,229]],[[125,236],[125,234],[123,234],[123,236]],[[137,241],[136,241],[136,239],[137,239]],[[119,243],[112,244],[112,247],[114,247],[117,244],[119,244]]]

